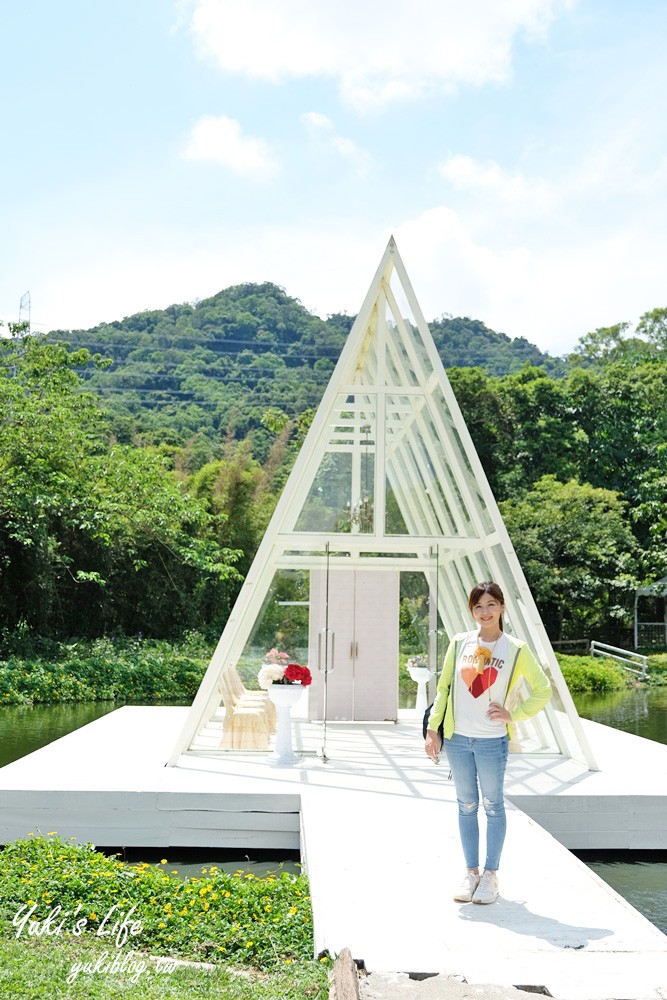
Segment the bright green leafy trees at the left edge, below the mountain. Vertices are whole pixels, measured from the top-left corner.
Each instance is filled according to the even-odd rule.
[[[0,606],[42,634],[166,636],[226,610],[237,553],[156,450],[109,440],[76,368],[33,337],[0,341]]]

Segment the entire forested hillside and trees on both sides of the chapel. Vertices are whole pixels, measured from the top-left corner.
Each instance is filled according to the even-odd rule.
[[[241,285],[0,339],[0,645],[219,633],[352,322]],[[667,573],[667,309],[564,359],[431,330],[551,638],[627,642]]]

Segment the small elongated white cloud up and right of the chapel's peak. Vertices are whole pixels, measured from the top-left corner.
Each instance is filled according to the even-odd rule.
[[[450,156],[439,173],[458,190],[488,194],[514,210],[544,212],[554,207],[557,198],[554,187],[542,178],[504,170],[493,160],[480,163],[470,156]]]

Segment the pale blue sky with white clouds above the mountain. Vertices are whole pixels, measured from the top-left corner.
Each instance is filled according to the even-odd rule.
[[[665,0],[4,0],[0,318],[273,281],[562,354],[667,305]]]

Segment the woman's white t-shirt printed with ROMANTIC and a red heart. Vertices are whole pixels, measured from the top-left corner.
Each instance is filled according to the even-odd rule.
[[[474,653],[478,646],[491,650],[490,662],[484,672],[477,673]],[[508,642],[503,632],[495,642],[480,640],[479,632],[471,632],[459,652],[455,674],[454,732],[473,739],[504,736],[506,723],[487,718],[492,701],[502,705],[509,683]]]

